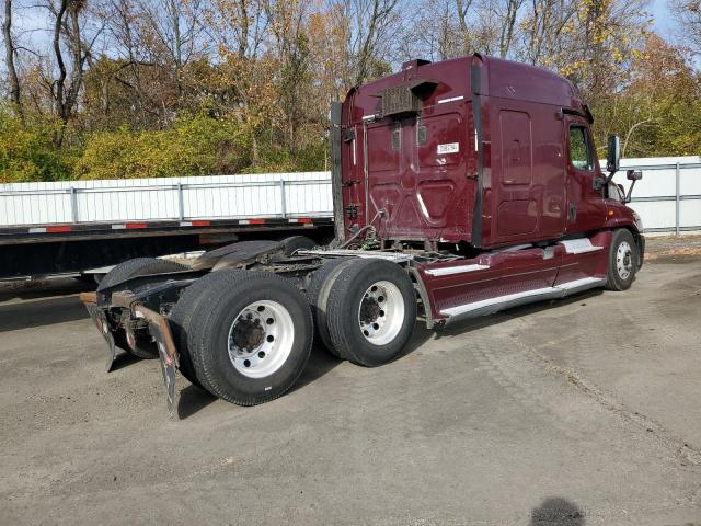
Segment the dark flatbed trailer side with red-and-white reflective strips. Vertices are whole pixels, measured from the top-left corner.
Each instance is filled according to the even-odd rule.
[[[333,237],[330,217],[195,219],[0,227],[0,279],[76,273],[133,258],[211,250],[237,240]]]

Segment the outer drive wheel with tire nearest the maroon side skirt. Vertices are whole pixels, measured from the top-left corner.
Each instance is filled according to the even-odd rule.
[[[355,260],[331,287],[326,323],[335,350],[350,362],[377,367],[405,348],[416,323],[416,293],[397,263]]]

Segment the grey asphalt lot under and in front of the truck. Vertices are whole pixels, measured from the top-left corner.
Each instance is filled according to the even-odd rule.
[[[701,525],[701,258],[652,261],[377,369],[314,350],[264,405],[181,380],[177,422],[83,286],[4,286],[0,524]]]

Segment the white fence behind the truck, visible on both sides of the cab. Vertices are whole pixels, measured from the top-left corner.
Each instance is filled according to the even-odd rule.
[[[701,230],[701,158],[625,159],[646,231]],[[0,184],[0,226],[158,219],[330,217],[329,172]]]

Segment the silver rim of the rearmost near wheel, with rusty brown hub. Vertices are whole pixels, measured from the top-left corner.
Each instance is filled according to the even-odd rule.
[[[295,340],[289,311],[277,301],[248,305],[231,323],[227,342],[231,365],[249,378],[265,378],[289,357]]]

